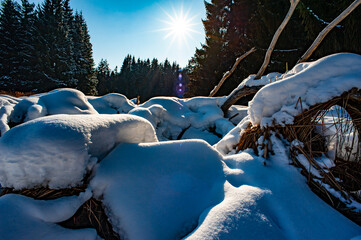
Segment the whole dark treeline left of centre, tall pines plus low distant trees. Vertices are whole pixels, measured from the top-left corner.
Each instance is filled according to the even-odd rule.
[[[44,0],[35,7],[28,0],[1,1],[0,90],[45,92],[71,87],[90,95],[140,96],[141,101],[183,96],[186,71],[168,60],[159,63],[128,55],[120,71],[110,70],[106,60],[95,68],[87,24],[69,2]]]

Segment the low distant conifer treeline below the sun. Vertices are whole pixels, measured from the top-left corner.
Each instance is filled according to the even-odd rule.
[[[189,81],[186,70],[180,70],[175,62],[136,60],[131,55],[125,57],[120,71],[110,70],[107,60],[101,60],[96,70],[99,95],[118,92],[128,98],[139,96],[141,101],[155,96],[183,97]]]

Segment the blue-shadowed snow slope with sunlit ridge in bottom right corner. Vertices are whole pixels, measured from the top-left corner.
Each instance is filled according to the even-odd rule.
[[[327,205],[289,164],[283,142],[271,136],[269,160],[252,151],[224,158],[222,203],[203,213],[189,239],[351,239],[361,228]],[[262,152],[260,153],[262,155]],[[264,162],[266,161],[266,165]]]

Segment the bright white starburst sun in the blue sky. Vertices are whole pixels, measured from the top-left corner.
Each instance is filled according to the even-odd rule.
[[[177,41],[179,45],[188,46],[188,40],[193,39],[192,34],[198,33],[194,30],[197,25],[194,23],[196,16],[189,16],[190,10],[184,12],[183,6],[178,10],[173,7],[172,10],[172,14],[163,10],[168,19],[162,20],[165,28],[160,29],[160,31],[167,33],[164,38],[171,39],[171,44]]]

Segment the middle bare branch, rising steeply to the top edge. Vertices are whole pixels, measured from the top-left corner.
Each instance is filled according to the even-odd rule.
[[[265,56],[264,62],[262,64],[262,67],[259,69],[255,79],[260,79],[262,77],[263,73],[266,71],[266,68],[269,64],[269,61],[271,60],[271,55],[272,55],[273,49],[276,46],[278,38],[280,37],[283,29],[286,27],[287,23],[291,19],[291,16],[292,16],[293,12],[295,11],[299,2],[300,2],[300,0],[290,0],[290,3],[291,3],[290,9],[288,10],[288,13],[287,13],[285,19],[283,20],[281,25],[278,27],[275,35],[273,36],[272,42],[266,52],[266,56]]]

